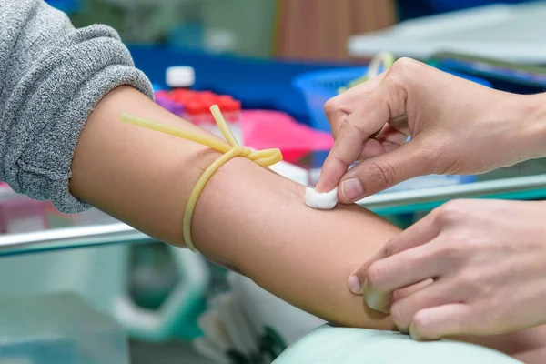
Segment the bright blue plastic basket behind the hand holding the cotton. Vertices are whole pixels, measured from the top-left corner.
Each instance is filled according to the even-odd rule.
[[[306,73],[294,78],[294,87],[302,93],[306,100],[310,125],[315,129],[330,131],[329,121],[324,113],[324,104],[330,98],[338,95],[339,87],[347,86],[349,82],[364,76],[367,71],[367,66],[338,68]],[[491,86],[488,81],[478,77],[455,72],[450,72],[450,74],[466,78],[480,85]]]

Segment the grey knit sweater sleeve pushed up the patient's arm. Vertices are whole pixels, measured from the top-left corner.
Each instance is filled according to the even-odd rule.
[[[0,179],[61,211],[86,209],[68,190],[77,139],[121,85],[153,97],[113,29],[76,30],[43,0],[0,0]]]

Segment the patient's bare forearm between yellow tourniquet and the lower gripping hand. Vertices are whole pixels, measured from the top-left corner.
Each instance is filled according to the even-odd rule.
[[[246,160],[232,162],[197,207],[201,252],[322,319],[391,329],[389,319],[349,292],[347,279],[398,228],[361,207],[311,209],[303,203],[304,187]]]

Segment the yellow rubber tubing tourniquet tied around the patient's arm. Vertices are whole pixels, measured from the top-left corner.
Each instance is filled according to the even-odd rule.
[[[135,126],[146,127],[150,130],[155,130],[160,133],[168,134],[171,136],[178,136],[196,143],[199,143],[206,147],[211,147],[216,149],[218,152],[223,153],[222,156],[218,157],[203,173],[203,175],[197,181],[196,187],[191,191],[191,195],[187,200],[186,210],[184,212],[184,220],[182,222],[182,230],[184,234],[184,242],[187,248],[190,248],[193,251],[197,252],[197,248],[191,238],[191,217],[193,216],[194,209],[197,205],[197,200],[203,191],[203,188],[207,185],[208,180],[219,167],[222,167],[227,163],[231,158],[234,157],[246,157],[256,163],[261,167],[269,167],[280,162],[282,160],[282,153],[279,149],[265,149],[252,151],[248,147],[240,147],[237,140],[231,133],[229,126],[227,126],[226,120],[218,106],[210,107],[212,116],[216,120],[217,126],[220,128],[222,135],[226,138],[226,141],[218,140],[217,138],[211,136],[202,136],[191,131],[179,129],[173,126],[166,126],[154,121],[143,119],[137,116],[131,116],[127,114],[122,114],[119,116],[121,121],[132,124]]]

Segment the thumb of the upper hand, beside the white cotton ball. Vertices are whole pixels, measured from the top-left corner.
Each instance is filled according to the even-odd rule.
[[[425,148],[412,140],[350,168],[339,182],[339,202],[353,203],[412,177],[432,174],[433,170]]]

